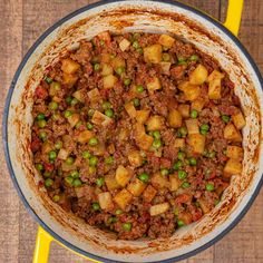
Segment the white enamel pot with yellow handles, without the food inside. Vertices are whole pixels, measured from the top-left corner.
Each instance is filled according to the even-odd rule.
[[[226,22],[172,1],[104,1],[81,8],[49,28],[20,64],[6,103],[3,145],[18,194],[41,226],[33,261],[48,261],[49,244],[56,240],[95,262],[175,262],[196,254],[222,238],[244,216],[262,185],[263,80],[236,38],[243,0],[230,0]],[[223,199],[199,222],[177,231],[169,238],[117,241],[67,214],[49,199],[32,165],[30,145],[33,91],[45,68],[80,39],[105,30],[148,31],[176,35],[216,58],[235,82],[246,126],[243,129],[243,173],[233,176]]]

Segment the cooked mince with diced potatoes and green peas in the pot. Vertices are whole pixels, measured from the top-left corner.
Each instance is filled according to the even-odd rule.
[[[234,88],[216,60],[167,35],[80,41],[35,92],[41,185],[118,238],[171,236],[212,211],[242,172]]]

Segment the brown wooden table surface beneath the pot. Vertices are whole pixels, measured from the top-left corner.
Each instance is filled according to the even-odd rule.
[[[0,1],[0,111],[11,78],[33,41],[55,21],[88,4],[87,0],[1,0]],[[226,0],[185,1],[224,20]],[[263,72],[263,0],[245,0],[240,38]],[[1,133],[1,132],[0,132]],[[0,148],[0,262],[28,263],[32,259],[37,223],[32,221],[9,178]],[[70,251],[52,245],[50,262],[87,262]],[[222,241],[184,263],[263,262],[263,192],[242,222]]]

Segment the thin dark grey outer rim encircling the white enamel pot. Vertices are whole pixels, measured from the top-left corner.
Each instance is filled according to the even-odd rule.
[[[227,28],[225,28],[220,21],[217,21],[216,19],[214,19],[213,17],[208,16],[207,13],[195,9],[192,6],[187,6],[183,2],[177,2],[177,1],[172,1],[172,0],[146,0],[145,2],[159,2],[159,3],[168,3],[168,4],[173,4],[176,7],[179,7],[182,9],[185,9],[187,11],[193,12],[195,16],[201,16],[202,18],[206,19],[208,22],[212,22],[214,26],[216,26],[217,28],[220,28],[225,35],[227,35],[227,37],[230,37],[235,45],[237,46],[237,48],[243,52],[243,55],[246,57],[246,59],[250,61],[251,67],[253,68],[260,84],[261,84],[261,88],[263,89],[263,79],[261,76],[261,72],[256,66],[256,64],[254,62],[253,58],[251,57],[251,55],[247,52],[246,48],[241,43],[241,41],[238,40],[237,37],[235,37]],[[104,4],[108,4],[108,3],[114,3],[114,2],[126,2],[125,0],[105,0],[105,1],[98,1],[95,3],[90,3],[88,6],[85,6],[69,14],[67,14],[66,17],[61,18],[60,20],[58,20],[57,22],[55,22],[51,27],[49,27],[36,41],[35,43],[30,47],[30,49],[28,50],[28,52],[26,53],[26,56],[22,58],[22,61],[20,62],[13,78],[11,81],[11,85],[9,87],[8,90],[8,95],[6,98],[6,104],[4,104],[4,110],[3,110],[3,119],[2,119],[2,143],[3,143],[3,150],[4,150],[4,157],[6,157],[6,162],[8,165],[8,171],[9,174],[11,176],[12,179],[12,184],[14,185],[17,193],[20,197],[20,199],[22,201],[23,205],[26,206],[27,211],[29,212],[29,214],[33,217],[33,220],[45,230],[47,231],[50,235],[52,235],[56,241],[60,242],[62,245],[67,246],[68,249],[84,255],[85,257],[89,257],[92,260],[97,260],[97,261],[103,261],[103,262],[117,262],[117,261],[113,261],[113,260],[108,260],[106,257],[103,256],[98,256],[95,254],[91,254],[87,251],[84,251],[81,249],[79,249],[78,246],[71,244],[70,242],[66,241],[64,237],[61,237],[59,234],[57,234],[56,232],[53,232],[52,228],[50,228],[39,216],[38,214],[33,211],[33,208],[30,206],[30,204],[28,203],[28,201],[26,199],[21,188],[19,187],[18,181],[16,178],[14,172],[13,172],[13,167],[11,164],[11,159],[10,159],[10,153],[9,153],[9,145],[8,145],[8,117],[9,117],[9,108],[10,108],[10,101],[12,98],[12,94],[14,91],[14,87],[17,85],[18,78],[23,69],[23,67],[26,66],[28,59],[31,57],[31,55],[35,52],[35,50],[38,48],[38,46],[47,38],[47,36],[49,36],[53,30],[56,30],[58,27],[60,27],[61,25],[64,25],[66,21],[70,20],[71,18],[74,18],[75,16],[78,16],[87,10],[94,9],[96,7],[100,7]],[[241,211],[241,213],[238,214],[238,216],[218,235],[216,235],[214,238],[212,238],[211,241],[208,241],[206,244],[191,251],[187,252],[185,254],[182,254],[179,256],[175,256],[172,259],[167,259],[164,261],[156,261],[156,262],[166,262],[166,263],[172,263],[172,262],[177,262],[181,260],[185,260],[187,257],[191,257],[206,249],[208,249],[210,246],[212,246],[213,244],[215,244],[216,242],[218,242],[220,240],[222,240],[230,231],[233,230],[233,227],[235,225],[237,225],[237,223],[244,217],[244,215],[247,213],[249,208],[251,207],[251,205],[253,204],[253,202],[255,201],[255,197],[259,195],[260,189],[263,185],[263,176],[261,177],[256,188],[254,189],[253,195],[250,197],[250,201],[247,202],[247,204],[244,206],[244,208]],[[121,262],[121,261],[118,261]]]

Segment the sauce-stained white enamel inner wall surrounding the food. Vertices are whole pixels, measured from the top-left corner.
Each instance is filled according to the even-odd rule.
[[[46,193],[43,189],[39,189],[39,192],[41,192],[41,194],[39,194],[35,186],[36,184],[32,184],[32,176],[30,173],[35,174],[35,182],[38,181],[38,176],[36,171],[31,167],[31,155],[27,150],[27,142],[30,138],[30,125],[32,121],[30,114],[32,106],[31,95],[42,76],[45,66],[55,60],[59,51],[65,50],[66,47],[69,47],[79,39],[91,38],[104,30],[118,31],[116,20],[120,20],[119,17],[101,18],[98,14],[105,10],[109,11],[118,9],[124,7],[124,4],[127,9],[136,7],[142,8],[142,10],[147,8],[148,10],[162,10],[184,14],[186,18],[202,25],[204,29],[212,32],[214,36],[217,36],[225,43],[224,46],[218,45],[217,41],[207,38],[203,33],[194,31],[186,23],[182,21],[172,21],[169,18],[166,19],[165,17],[162,17],[159,20],[156,20],[153,19],[156,18],[154,14],[145,12],[135,12],[134,14],[128,16],[124,14],[121,18],[121,20],[134,21],[133,26],[127,27],[124,30],[176,33],[196,45],[201,50],[215,57],[221,62],[222,67],[230,74],[231,79],[237,84],[236,94],[242,100],[247,123],[247,126],[243,130],[245,162],[242,179],[234,176],[232,187],[225,193],[225,203],[223,203],[225,205],[224,207],[227,207],[227,202],[231,202],[233,196],[240,196],[238,202],[230,208],[230,213],[223,213],[226,208],[222,208],[223,212],[220,212],[221,206],[218,206],[217,210],[206,215],[199,223],[182,228],[171,238],[154,242],[154,245],[159,247],[158,251],[156,251],[155,247],[149,247],[148,241],[115,241],[103,232],[82,224],[80,221],[74,218],[74,216],[67,216],[60,207],[52,205],[51,202],[45,197]],[[66,28],[88,17],[90,17],[90,20],[87,21],[87,23],[79,26],[78,29],[70,30],[67,36],[62,35]],[[110,26],[110,21],[115,21],[115,23]],[[58,38],[61,38],[61,43],[57,45],[56,48],[49,49],[50,45]],[[231,50],[231,56],[226,49]],[[46,52],[46,56],[41,57],[43,51]],[[236,60],[233,60],[232,56],[236,57],[240,66],[237,66]],[[35,68],[36,65],[39,65],[40,67]],[[30,81],[29,90],[25,91],[25,86],[28,82],[32,70],[33,79]],[[242,76],[246,76],[249,80]],[[224,230],[226,230],[226,227],[241,214],[259,185],[262,176],[262,158],[256,163],[252,162],[256,147],[259,146],[259,134],[262,132],[260,125],[262,119],[260,119],[261,116],[259,115],[259,111],[256,111],[260,110],[260,108],[254,105],[253,95],[255,94],[261,105],[263,101],[261,84],[242,50],[220,28],[192,11],[168,3],[150,1],[113,2],[82,11],[67,20],[62,26],[56,28],[39,43],[25,64],[18,77],[11,97],[8,117],[10,160],[18,185],[31,208],[49,228],[68,243],[94,255],[114,261],[152,262],[176,257],[192,252],[224,232]],[[25,98],[27,104],[26,107],[22,107]],[[17,125],[18,123],[20,123],[20,125]],[[260,148],[259,156],[262,156],[262,148]],[[250,184],[247,183],[249,178],[246,177],[246,174],[250,174],[252,178]],[[51,206],[53,206],[53,208],[50,208]],[[50,215],[50,211],[52,211],[52,215]],[[216,227],[214,227],[214,224]],[[187,243],[186,241],[188,238],[191,238],[192,242]],[[97,244],[95,244],[95,241],[97,241]],[[116,253],[110,246],[121,249],[129,246],[134,252],[124,254],[119,250],[118,253]],[[137,250],[137,252],[135,250]]]

